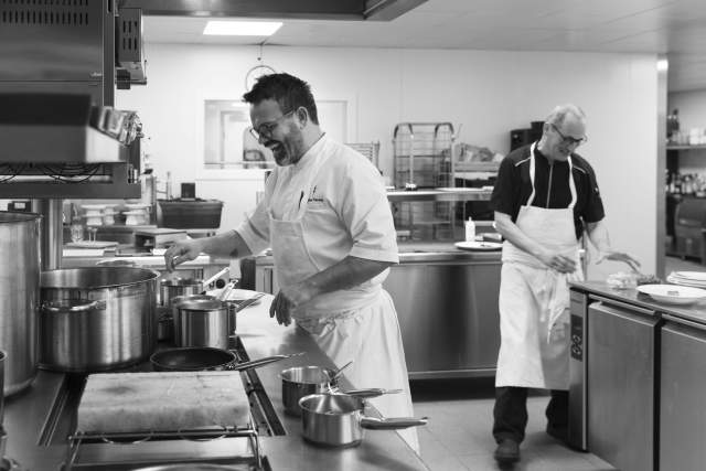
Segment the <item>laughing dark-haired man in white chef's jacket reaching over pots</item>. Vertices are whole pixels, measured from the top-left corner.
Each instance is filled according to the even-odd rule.
[[[293,319],[343,366],[357,388],[403,389],[372,403],[387,417],[411,417],[397,313],[382,288],[398,263],[396,233],[377,169],[319,127],[309,85],[289,74],[260,77],[244,95],[253,133],[277,168],[265,197],[235,231],[178,243],[168,269],[200,253],[244,257],[271,247],[280,291],[270,317]],[[415,429],[399,433],[418,452]]]

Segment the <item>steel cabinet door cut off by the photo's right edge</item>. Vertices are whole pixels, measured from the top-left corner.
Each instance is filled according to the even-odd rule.
[[[661,331],[660,469],[702,470],[706,463],[706,325],[665,319],[670,321]]]

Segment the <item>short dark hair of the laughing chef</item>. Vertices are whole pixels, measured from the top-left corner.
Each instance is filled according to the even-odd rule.
[[[314,125],[319,124],[317,104],[313,100],[311,87],[308,83],[293,75],[263,75],[257,79],[253,88],[243,95],[243,99],[252,105],[257,105],[265,99],[274,99],[279,104],[282,113],[289,113],[303,106],[309,111],[311,121]]]

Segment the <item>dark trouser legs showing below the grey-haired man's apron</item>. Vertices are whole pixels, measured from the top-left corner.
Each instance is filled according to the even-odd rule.
[[[568,427],[569,392],[553,389],[545,414],[547,430],[565,436]],[[527,388],[496,387],[493,419],[493,437],[496,442],[506,438],[522,442],[527,426]]]

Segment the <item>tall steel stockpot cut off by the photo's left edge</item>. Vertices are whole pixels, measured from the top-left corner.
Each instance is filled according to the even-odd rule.
[[[36,376],[40,227],[34,213],[0,212],[0,350],[7,352],[4,395]]]

